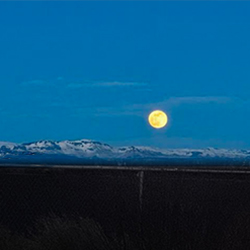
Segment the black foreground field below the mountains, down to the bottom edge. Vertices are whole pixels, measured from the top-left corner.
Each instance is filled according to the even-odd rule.
[[[247,169],[1,167],[0,249],[250,249]]]

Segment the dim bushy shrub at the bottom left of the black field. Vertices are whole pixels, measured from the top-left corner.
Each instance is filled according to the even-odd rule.
[[[34,233],[35,232],[35,233]],[[101,226],[92,219],[66,217],[40,219],[30,243],[34,250],[133,250],[129,236],[108,238]]]

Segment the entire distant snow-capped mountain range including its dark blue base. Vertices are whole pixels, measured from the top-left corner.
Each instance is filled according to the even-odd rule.
[[[112,147],[93,140],[0,142],[0,164],[250,165],[250,150]]]

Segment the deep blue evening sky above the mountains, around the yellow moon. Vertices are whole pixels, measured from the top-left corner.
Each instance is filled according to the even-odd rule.
[[[250,2],[0,2],[0,141],[250,148]],[[154,109],[169,116],[156,130]]]

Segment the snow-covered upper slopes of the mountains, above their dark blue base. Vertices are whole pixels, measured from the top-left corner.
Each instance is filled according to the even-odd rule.
[[[51,141],[41,140],[31,143],[16,144],[0,142],[0,159],[6,156],[22,155],[68,155],[78,158],[248,158],[250,150],[228,149],[156,149],[130,146],[111,147],[108,144],[92,140]]]

